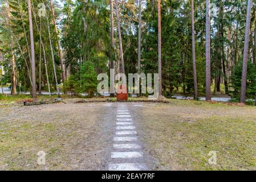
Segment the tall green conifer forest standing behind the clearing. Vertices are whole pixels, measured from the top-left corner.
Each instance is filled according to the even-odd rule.
[[[160,95],[256,97],[255,0],[1,0],[1,88],[94,96],[97,75],[159,73]]]

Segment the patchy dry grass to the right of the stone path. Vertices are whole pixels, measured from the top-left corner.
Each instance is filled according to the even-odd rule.
[[[163,170],[256,170],[256,107],[176,101],[141,115],[147,150]],[[208,163],[217,151],[217,165]]]

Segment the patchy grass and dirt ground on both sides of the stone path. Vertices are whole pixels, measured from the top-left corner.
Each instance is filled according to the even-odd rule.
[[[113,108],[76,101],[1,106],[0,170],[106,170]],[[169,101],[131,109],[149,169],[256,170],[256,107]],[[208,163],[210,151],[216,165]]]

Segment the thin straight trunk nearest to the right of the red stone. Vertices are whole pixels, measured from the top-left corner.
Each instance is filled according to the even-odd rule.
[[[139,0],[139,30],[138,30],[138,74],[140,75],[141,74],[141,24],[142,24],[142,21],[141,21],[141,1],[142,0]],[[140,80],[139,80],[139,83]],[[138,96],[140,97],[141,96],[141,84],[140,84],[140,88],[139,88],[139,94]]]

